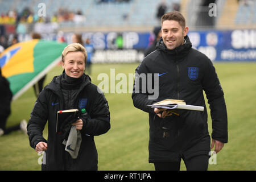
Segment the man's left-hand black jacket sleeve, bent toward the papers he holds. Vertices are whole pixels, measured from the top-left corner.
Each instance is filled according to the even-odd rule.
[[[147,69],[142,61],[141,64],[135,69],[135,79],[133,85],[133,93],[131,98],[133,98],[133,105],[138,109],[141,109],[147,113],[154,113],[154,108],[148,107],[147,105],[154,104],[157,99],[150,99],[150,94],[147,91]]]

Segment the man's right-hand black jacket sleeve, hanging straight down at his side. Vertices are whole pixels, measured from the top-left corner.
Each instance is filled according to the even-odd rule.
[[[222,143],[228,143],[228,116],[224,92],[218,80],[215,68],[207,58],[205,64],[203,89],[208,99],[210,116],[212,118],[212,138]]]

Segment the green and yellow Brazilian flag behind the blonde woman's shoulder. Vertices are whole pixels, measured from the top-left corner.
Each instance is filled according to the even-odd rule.
[[[13,100],[61,60],[61,52],[66,43],[32,39],[14,44],[0,54],[2,76],[10,82]]]

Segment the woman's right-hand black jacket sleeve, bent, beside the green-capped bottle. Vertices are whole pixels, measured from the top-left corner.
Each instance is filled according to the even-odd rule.
[[[95,92],[96,96],[94,97],[92,110],[86,118],[84,129],[82,129],[83,133],[89,135],[101,135],[110,129],[108,101],[102,92],[99,93],[98,90],[95,90]]]

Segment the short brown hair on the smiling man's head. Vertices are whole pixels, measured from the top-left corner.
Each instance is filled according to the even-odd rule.
[[[169,13],[164,14],[161,18],[161,26],[163,25],[163,22],[165,20],[175,20],[179,22],[182,28],[185,28],[186,26],[185,18],[181,13],[179,13],[179,11],[171,11]]]

